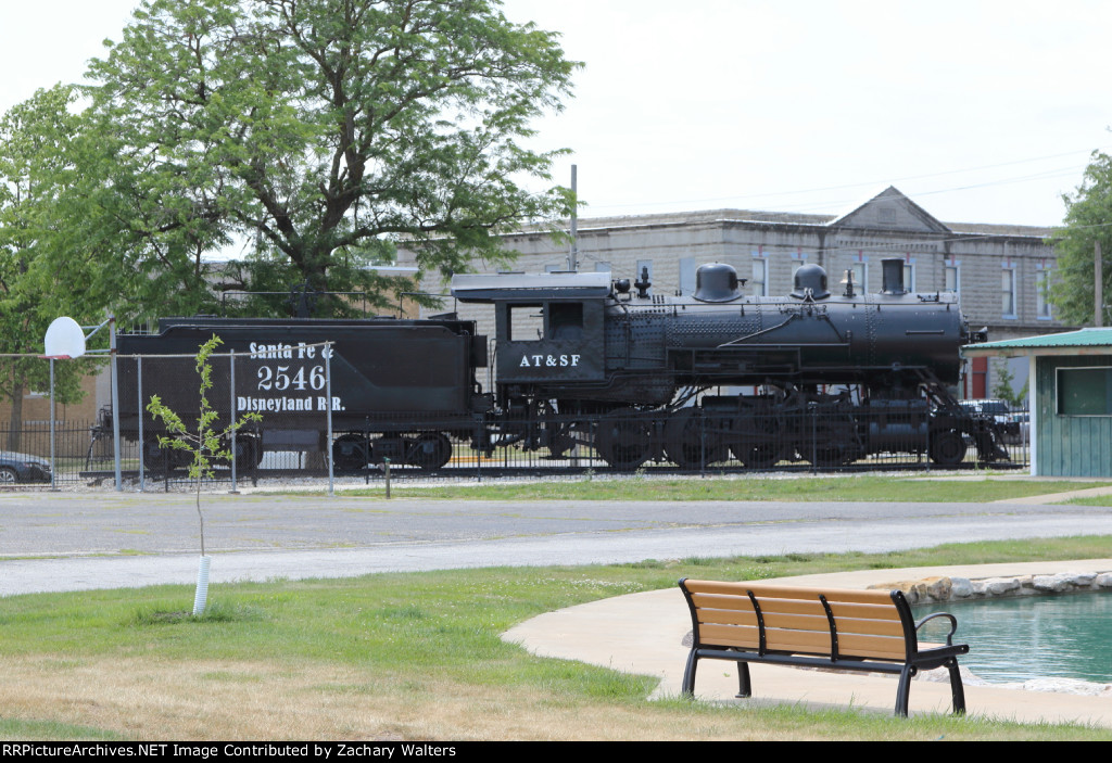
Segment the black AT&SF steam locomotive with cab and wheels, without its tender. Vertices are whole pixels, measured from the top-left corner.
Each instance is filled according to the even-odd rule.
[[[632,288],[631,288],[632,287]],[[457,275],[461,302],[493,304],[497,404],[524,448],[594,446],[609,464],[667,459],[764,469],[838,465],[887,451],[940,464],[1007,458],[1001,433],[949,391],[972,334],[956,298],[904,290],[884,262],[878,294],[818,265],[785,297],[747,297],[728,264],[698,269],[691,297],[607,273]],[[568,421],[568,419],[572,421]],[[589,423],[588,423],[589,422]]]

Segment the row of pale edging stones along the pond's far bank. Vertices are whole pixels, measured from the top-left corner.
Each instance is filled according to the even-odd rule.
[[[1052,575],[1015,575],[1013,578],[923,578],[870,585],[870,589],[898,589],[909,604],[994,599],[999,596],[1034,596],[1049,593],[1112,591],[1112,572],[1059,572]]]

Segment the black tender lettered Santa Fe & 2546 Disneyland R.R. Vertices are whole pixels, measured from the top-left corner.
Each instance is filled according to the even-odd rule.
[[[195,362],[182,355],[196,354],[214,334],[224,342],[220,353],[236,354],[235,380],[229,358],[211,361],[214,385],[207,396],[214,409],[227,410],[225,401],[234,400],[237,416],[262,414],[261,423],[236,438],[237,459],[248,465],[257,465],[266,451],[328,448],[325,422],[331,409],[338,468],[358,469],[388,458],[439,469],[451,456],[443,424],[469,431],[470,414],[490,406],[489,395],[475,382],[475,370],[486,365],[486,338],[475,337],[473,321],[161,319],[158,334],[122,334],[118,340],[120,430],[137,438],[142,416],[143,459],[151,468],[166,459],[181,466],[188,454],[159,448],[158,435],[166,429],[140,410],[139,384],[142,400],[158,394],[182,415],[196,411]],[[140,365],[129,355],[149,360]],[[221,416],[218,425],[225,423]],[[374,452],[368,434],[376,435]]]

